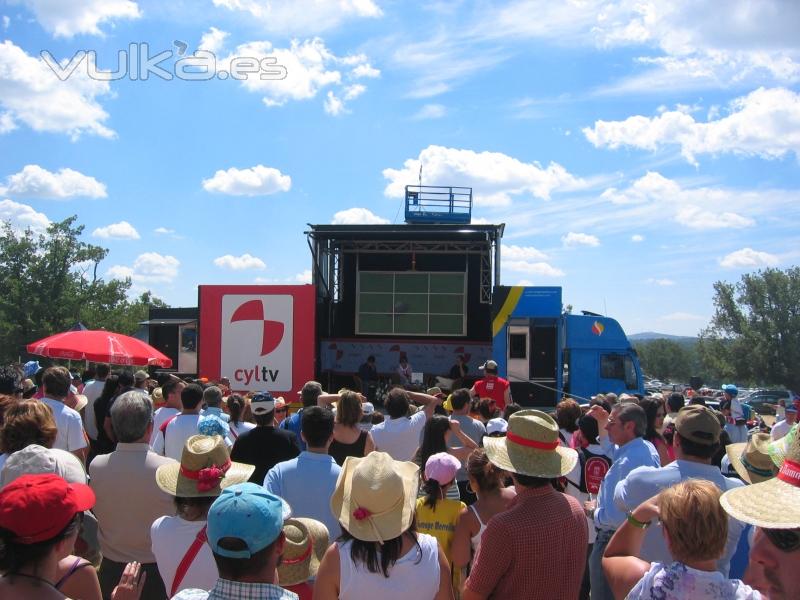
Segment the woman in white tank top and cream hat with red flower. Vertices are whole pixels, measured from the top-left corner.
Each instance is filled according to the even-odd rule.
[[[419,467],[385,452],[348,456],[331,508],[342,525],[317,571],[315,600],[452,600],[450,567],[436,538],[417,533]]]

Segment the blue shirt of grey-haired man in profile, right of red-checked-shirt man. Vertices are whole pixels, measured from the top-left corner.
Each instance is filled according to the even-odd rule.
[[[611,468],[600,484],[594,525],[598,529],[616,529],[625,520],[625,511],[614,504],[614,490],[637,467],[658,467],[661,459],[655,446],[642,438],[635,438],[624,446],[616,446]]]

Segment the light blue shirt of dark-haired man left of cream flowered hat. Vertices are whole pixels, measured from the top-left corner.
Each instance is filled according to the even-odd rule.
[[[331,496],[342,468],[329,454],[304,451],[280,462],[264,478],[267,491],[280,496],[292,507],[292,516],[322,521],[331,541],[342,533],[331,511]]]

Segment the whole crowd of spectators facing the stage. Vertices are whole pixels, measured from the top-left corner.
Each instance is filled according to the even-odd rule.
[[[384,415],[314,381],[290,414],[227,380],[4,367],[0,598],[800,598],[800,398],[771,433],[732,385],[720,412],[547,413],[483,368]]]

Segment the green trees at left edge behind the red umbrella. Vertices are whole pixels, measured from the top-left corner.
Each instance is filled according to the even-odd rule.
[[[150,306],[164,306],[150,292],[131,301],[131,281],[97,276],[108,250],[81,241],[76,216],[51,223],[43,234],[0,233],[0,358],[13,361],[32,341],[80,321],[91,329],[132,334]]]

